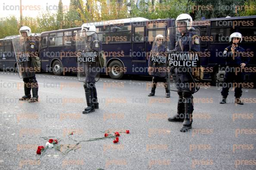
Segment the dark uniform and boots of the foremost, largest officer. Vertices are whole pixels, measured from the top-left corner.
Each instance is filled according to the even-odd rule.
[[[192,39],[197,37],[197,35],[193,32],[194,28],[192,27],[190,30],[187,30],[184,35],[178,37],[178,40],[175,44],[175,52],[199,52],[200,44],[199,40]],[[180,69],[178,69],[180,68]],[[187,129],[191,128],[192,125],[192,112],[194,110],[193,106],[193,96],[192,94],[195,92],[195,88],[190,87],[190,83],[194,83],[194,79],[190,72],[186,71],[178,71],[182,70],[182,67],[172,67],[172,72],[174,72],[174,80],[176,88],[178,89],[178,106],[177,106],[177,114],[171,118],[168,118],[169,121],[183,121],[183,127],[180,131],[185,132]]]

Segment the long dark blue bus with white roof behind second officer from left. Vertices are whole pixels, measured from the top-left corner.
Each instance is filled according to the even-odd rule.
[[[107,73],[112,79],[121,79],[124,74],[148,75],[148,55],[155,36],[165,36],[174,19],[148,20],[127,18],[95,23],[99,40],[103,44]],[[76,71],[75,33],[81,27],[41,33],[41,70],[53,71],[55,75]]]

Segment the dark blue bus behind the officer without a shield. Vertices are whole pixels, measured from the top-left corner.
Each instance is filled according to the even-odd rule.
[[[256,82],[256,16],[213,18],[194,21],[194,25],[200,27],[201,52],[206,54],[201,58],[202,66],[206,68],[204,79],[214,83],[224,81],[225,59],[221,57],[222,52],[230,45],[231,33],[239,32],[243,36],[239,46],[250,56],[250,62],[246,66],[249,70],[244,73],[244,81]]]

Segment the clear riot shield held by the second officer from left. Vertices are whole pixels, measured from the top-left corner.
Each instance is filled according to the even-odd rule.
[[[97,82],[100,79],[98,34],[88,31],[77,32],[75,35],[75,48],[78,81]]]

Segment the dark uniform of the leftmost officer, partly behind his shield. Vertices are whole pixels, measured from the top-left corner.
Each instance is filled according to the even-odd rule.
[[[28,40],[28,41],[25,41],[25,47],[28,50],[28,54],[30,56],[29,57],[30,60],[27,61],[28,66],[30,66],[30,68],[28,68],[28,67],[27,68],[34,70],[35,66],[32,63],[32,57],[37,55],[37,53],[36,53],[37,45],[33,40]],[[30,91],[32,89],[33,97],[30,99],[29,102],[35,102],[35,100],[38,100],[38,83],[37,83],[34,71],[32,73],[31,70],[29,71],[28,69],[25,68],[25,72],[22,72],[22,75],[25,77],[25,78],[23,78],[25,96],[20,98],[20,100],[30,99],[31,98]]]

